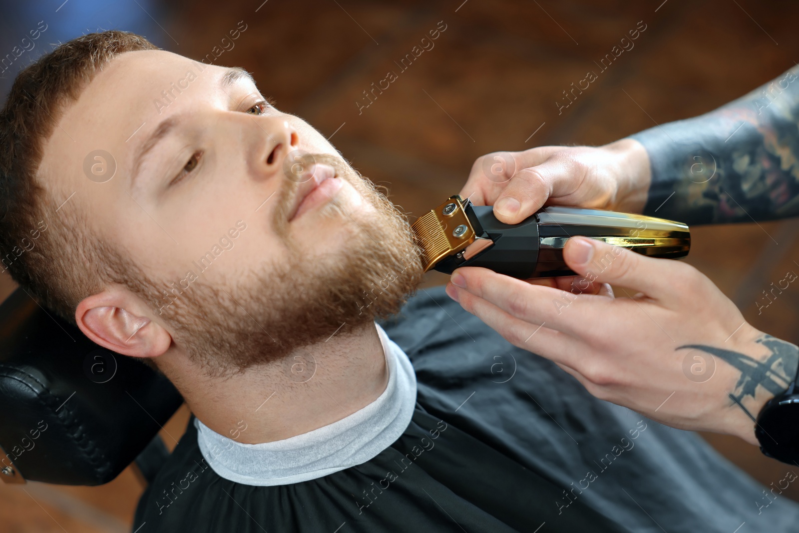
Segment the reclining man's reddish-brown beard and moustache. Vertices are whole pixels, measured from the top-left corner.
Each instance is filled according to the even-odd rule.
[[[161,293],[169,290],[169,281],[143,279],[137,272],[131,288],[143,290],[150,302],[153,292],[158,295],[156,308],[172,327],[173,340],[209,376],[284,363],[298,348],[357,332],[399,312],[423,279],[421,250],[407,218],[339,157],[311,157],[331,165],[375,208],[364,216],[332,197],[315,209],[320,225],[347,226],[344,248],[311,256],[290,238],[287,221],[299,184],[286,177],[272,220],[288,251],[285,261],[264,260],[263,268],[228,286],[208,284],[200,276],[166,307]]]

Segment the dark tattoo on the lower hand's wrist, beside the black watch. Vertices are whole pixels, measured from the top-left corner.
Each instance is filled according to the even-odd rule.
[[[799,348],[795,344],[779,340],[770,335],[762,335],[756,340],[769,348],[769,354],[757,359],[741,352],[733,352],[724,348],[705,344],[686,344],[677,349],[694,348],[718,357],[741,372],[741,377],[733,391],[729,392],[730,400],[744,409],[750,417],[757,412],[749,413],[746,406],[756,404],[757,393],[766,392],[769,397],[777,396],[785,391],[797,376],[799,367]],[[760,396],[762,400],[764,396]]]

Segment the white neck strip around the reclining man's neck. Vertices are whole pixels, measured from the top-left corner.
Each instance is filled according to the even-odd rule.
[[[400,438],[413,416],[416,375],[403,349],[375,327],[388,364],[383,394],[332,424],[262,444],[237,442],[195,419],[197,443],[213,471],[247,485],[300,483],[365,463]]]

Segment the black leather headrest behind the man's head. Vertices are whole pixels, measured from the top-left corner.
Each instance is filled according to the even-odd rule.
[[[107,483],[182,402],[165,376],[94,344],[24,288],[0,305],[0,476]]]

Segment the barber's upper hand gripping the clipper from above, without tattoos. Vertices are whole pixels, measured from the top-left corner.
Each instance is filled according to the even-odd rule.
[[[489,153],[472,165],[459,194],[475,205],[494,205],[499,221],[518,224],[545,203],[641,213],[650,179],[646,149],[622,139],[598,148]]]

